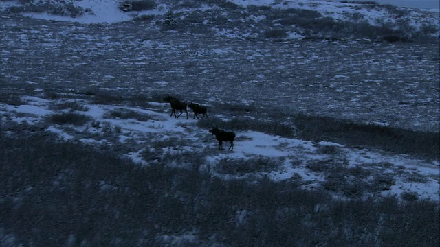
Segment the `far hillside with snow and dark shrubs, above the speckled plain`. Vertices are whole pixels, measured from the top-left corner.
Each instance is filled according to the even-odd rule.
[[[380,5],[374,1],[39,0],[5,1],[3,10],[84,23],[135,19],[159,24],[166,18],[172,21],[173,30],[179,32],[214,32],[234,38],[369,38],[391,42],[437,42],[439,38],[438,12]]]

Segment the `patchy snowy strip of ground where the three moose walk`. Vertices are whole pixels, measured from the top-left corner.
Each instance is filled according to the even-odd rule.
[[[60,113],[51,110],[50,106],[63,102],[63,100],[57,102],[39,97],[23,97],[22,100],[26,104],[20,106],[1,104],[0,113],[3,122],[25,121],[28,124],[38,124],[45,117]],[[149,108],[133,108],[70,101],[80,104],[84,109],[76,113],[87,115],[93,120],[85,126],[53,125],[48,126],[47,130],[57,133],[65,141],[96,143],[96,145],[122,143],[130,147],[122,155],[129,156],[140,165],[159,163],[169,155],[197,154],[201,155],[199,160],[202,164],[201,169],[208,170],[213,176],[225,179],[247,176],[268,176],[272,180],[291,179],[300,181],[303,187],[309,189],[320,189],[324,186],[327,177],[335,176],[329,171],[329,167],[342,167],[344,172],[342,176],[345,180],[341,180],[340,183],[347,183],[347,186],[352,185],[348,181],[353,179],[368,183],[384,175],[389,176],[387,178],[390,180],[389,184],[383,187],[384,190],[365,191],[366,194],[361,197],[415,193],[419,198],[440,201],[438,161],[422,161],[377,150],[347,148],[338,143],[324,141],[314,143],[254,131],[236,132],[234,152],[217,151],[217,141],[207,130],[197,127],[197,119],[192,120],[192,115],[188,120],[185,119],[185,115],[179,119],[170,117],[168,103],[151,102]],[[144,116],[144,119],[140,121],[109,118],[111,112],[127,110],[131,111],[133,116]],[[67,109],[64,111],[69,112]],[[225,147],[227,148],[226,143]],[[250,167],[241,167],[244,170],[240,170],[239,163],[236,163],[236,167],[225,165],[225,163],[235,164],[233,161],[237,160],[257,158],[269,158],[270,165],[256,169],[251,164]],[[223,166],[218,167],[219,163]],[[322,164],[327,168],[322,167]],[[177,158],[177,161],[168,165],[184,166],[185,164],[179,163]],[[356,175],[365,173],[369,175]],[[335,196],[349,195],[336,191]]]

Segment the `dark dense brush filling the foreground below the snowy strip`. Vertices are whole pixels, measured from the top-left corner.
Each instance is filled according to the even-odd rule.
[[[197,165],[141,168],[113,150],[43,134],[1,138],[0,150],[0,208],[8,209],[0,236],[18,244],[62,246],[74,235],[91,246],[155,246],[194,232],[188,245],[439,245],[437,202],[338,201],[289,181],[223,180]]]

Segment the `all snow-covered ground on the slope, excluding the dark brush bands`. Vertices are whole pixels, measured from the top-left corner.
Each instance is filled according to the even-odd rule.
[[[76,102],[85,110],[74,113],[87,115],[92,121],[84,126],[54,124],[45,129],[65,141],[122,143],[127,150],[121,155],[140,165],[191,152],[203,154],[201,169],[225,179],[268,176],[272,180],[298,180],[305,188],[319,189],[326,187],[330,175],[338,175],[347,187],[353,183],[362,187],[360,181],[384,184],[358,197],[415,193],[419,198],[440,201],[439,161],[254,131],[236,132],[234,152],[217,151],[217,141],[206,129],[197,127],[196,120],[170,117],[167,103],[144,102],[148,107],[103,105],[85,100],[84,95],[87,90],[148,97],[174,93],[210,109],[219,108],[221,103],[276,110],[287,106],[289,111],[438,131],[438,47],[306,40],[268,46],[244,43],[241,34],[234,36],[233,30],[220,28],[217,36],[194,43],[194,36],[160,32],[149,24],[120,23],[131,20],[133,14],[119,12],[116,1],[108,2],[76,2],[94,12],[73,20],[79,23],[0,16],[1,33],[6,34],[1,38],[0,60],[7,64],[0,69],[4,75],[0,78],[2,94],[17,94],[22,102],[0,103],[2,124],[25,121],[40,125],[47,116],[69,111],[54,110],[54,105]],[[263,5],[267,1],[236,3]],[[310,1],[288,1],[288,5],[318,9],[335,19],[343,19],[344,12],[356,7]],[[136,14],[164,14],[167,6],[159,7]],[[364,14],[373,21],[381,13],[371,10]],[[72,21],[47,14],[25,16]],[[259,16],[254,18],[258,21]],[[65,99],[48,99],[50,93],[64,94]],[[112,111],[127,110],[146,120],[108,117]],[[215,110],[211,113],[213,117],[231,117]],[[258,114],[265,116],[264,112]],[[261,157],[270,161],[263,169],[251,165],[239,170],[227,165],[229,161]],[[177,161],[168,165],[182,164]],[[343,174],[334,174],[328,167],[338,167]],[[349,197],[338,190],[335,196]]]

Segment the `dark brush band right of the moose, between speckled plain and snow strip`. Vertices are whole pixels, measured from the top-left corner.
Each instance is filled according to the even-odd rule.
[[[440,156],[438,132],[419,132],[303,114],[292,118],[297,128],[296,134],[302,139],[338,140],[338,143],[347,145],[379,146],[392,152],[436,159]]]

